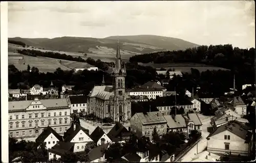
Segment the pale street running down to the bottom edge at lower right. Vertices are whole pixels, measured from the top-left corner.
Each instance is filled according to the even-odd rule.
[[[209,132],[207,132],[207,127],[210,127],[210,117],[205,117],[204,119],[201,119],[199,116],[201,122],[202,122],[202,140],[198,142],[198,145],[194,146],[193,148],[190,149],[189,152],[187,152],[182,158],[181,162],[190,162],[195,155],[197,154],[197,148],[198,148],[198,153],[201,153],[204,151],[204,149],[207,146],[207,140],[206,137],[209,135]]]

